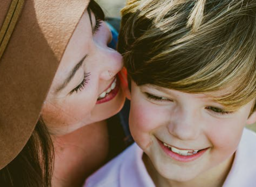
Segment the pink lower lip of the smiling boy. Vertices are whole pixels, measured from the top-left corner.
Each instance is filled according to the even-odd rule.
[[[199,157],[201,157],[208,150],[208,148],[206,148],[206,149],[200,150],[196,154],[189,155],[189,156],[184,156],[184,155],[179,155],[177,153],[174,153],[169,148],[165,147],[163,142],[161,142],[160,140],[157,139],[157,141],[158,141],[160,147],[164,150],[165,154],[167,154],[167,156],[169,156],[173,160],[176,160],[176,161],[179,161],[179,162],[191,162],[191,161],[197,160]]]

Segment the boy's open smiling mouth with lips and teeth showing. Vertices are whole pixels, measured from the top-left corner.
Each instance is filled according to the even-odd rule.
[[[173,160],[180,161],[180,162],[190,162],[194,161],[197,158],[201,157],[208,148],[205,149],[180,149],[169,144],[160,141],[157,138],[160,147],[164,150],[167,156],[170,156]]]

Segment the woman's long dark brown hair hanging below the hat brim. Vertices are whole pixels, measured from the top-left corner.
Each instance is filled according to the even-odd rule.
[[[53,155],[50,134],[43,120],[39,119],[21,153],[0,170],[1,186],[51,186]]]

